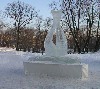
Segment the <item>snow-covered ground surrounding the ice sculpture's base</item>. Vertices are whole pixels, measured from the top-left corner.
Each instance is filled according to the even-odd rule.
[[[85,80],[25,76],[23,61],[41,56],[14,49],[0,48],[0,89],[100,89],[100,53],[71,54],[89,64],[89,78]]]

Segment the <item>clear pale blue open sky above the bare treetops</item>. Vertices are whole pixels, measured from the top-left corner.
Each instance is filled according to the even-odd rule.
[[[18,0],[0,0],[0,10],[4,10],[8,3]],[[35,7],[36,10],[40,10],[39,15],[43,18],[51,16],[49,4],[55,0],[20,0],[31,6]],[[56,0],[57,1],[57,0]]]

